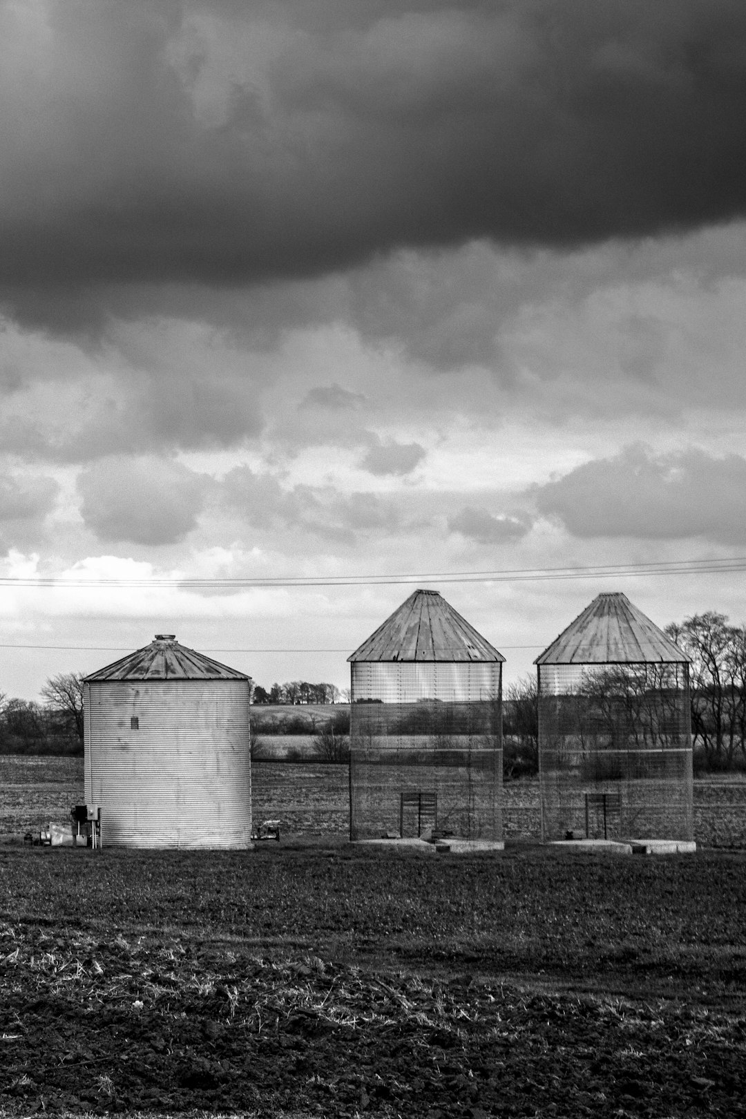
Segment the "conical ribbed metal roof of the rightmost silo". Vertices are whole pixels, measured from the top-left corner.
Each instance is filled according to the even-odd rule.
[[[678,645],[638,610],[626,594],[599,594],[535,665],[686,664]]]

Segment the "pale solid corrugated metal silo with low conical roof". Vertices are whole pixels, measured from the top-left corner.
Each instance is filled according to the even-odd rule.
[[[249,678],[158,633],[84,681],[104,845],[251,847]]]

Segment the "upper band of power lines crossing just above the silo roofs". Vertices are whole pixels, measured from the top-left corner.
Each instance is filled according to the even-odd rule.
[[[251,587],[268,589],[294,586],[386,586],[394,584],[422,583],[431,580],[440,583],[499,583],[575,579],[633,579],[642,576],[650,577],[654,575],[721,574],[744,571],[746,571],[746,556],[733,556],[720,560],[663,560],[649,563],[630,564],[577,564],[565,567],[507,567],[492,571],[472,572],[410,572],[408,574],[395,575],[287,575],[266,577],[256,576],[251,579],[208,579],[192,576],[107,579],[60,575],[4,575],[0,576],[0,586],[45,587],[54,590],[68,587],[244,590]]]

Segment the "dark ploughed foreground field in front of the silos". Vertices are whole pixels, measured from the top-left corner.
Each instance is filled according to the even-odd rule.
[[[745,872],[0,848],[0,1110],[743,1116]]]

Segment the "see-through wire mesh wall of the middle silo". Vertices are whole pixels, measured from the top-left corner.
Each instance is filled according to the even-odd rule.
[[[502,839],[500,661],[353,661],[351,698],[351,839]]]

